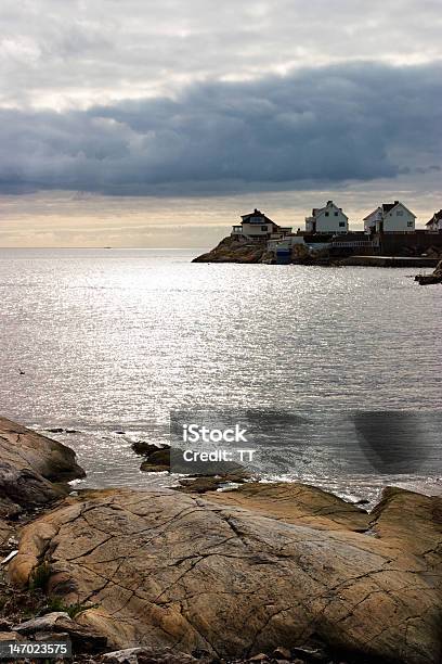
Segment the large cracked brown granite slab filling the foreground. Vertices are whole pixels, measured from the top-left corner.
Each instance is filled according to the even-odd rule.
[[[44,561],[49,593],[96,604],[76,621],[114,648],[233,657],[314,636],[355,661],[439,662],[441,498],[390,490],[369,519],[313,487],[284,508],[269,490],[249,489],[252,509],[244,488],[240,507],[168,489],[70,497],[25,528],[10,578]]]

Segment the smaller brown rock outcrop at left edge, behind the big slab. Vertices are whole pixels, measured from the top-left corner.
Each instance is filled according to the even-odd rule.
[[[0,418],[0,542],[22,510],[65,495],[64,483],[83,476],[69,447]]]

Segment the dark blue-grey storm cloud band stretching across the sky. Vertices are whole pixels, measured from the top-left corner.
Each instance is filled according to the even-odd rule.
[[[0,191],[223,194],[439,167],[442,66],[338,64],[86,111],[0,110]]]

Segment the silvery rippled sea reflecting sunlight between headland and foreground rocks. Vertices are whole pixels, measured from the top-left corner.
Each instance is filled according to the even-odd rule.
[[[74,490],[177,484],[132,443],[222,412],[269,440],[263,481],[441,494],[442,288],[203,251],[0,250],[0,413],[76,450]]]

